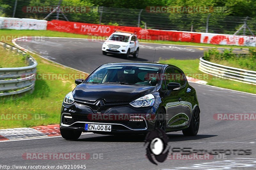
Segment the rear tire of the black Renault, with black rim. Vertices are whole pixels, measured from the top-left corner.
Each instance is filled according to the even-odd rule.
[[[199,109],[196,108],[193,112],[193,116],[191,118],[189,127],[187,129],[182,130],[183,135],[196,136],[199,130],[199,124],[200,124],[200,114],[199,114]]]

